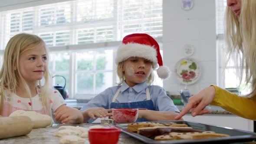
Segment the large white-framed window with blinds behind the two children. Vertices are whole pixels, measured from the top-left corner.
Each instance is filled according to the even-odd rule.
[[[0,56],[12,36],[36,34],[49,47],[51,74],[65,77],[69,97],[93,98],[118,82],[114,60],[122,38],[148,33],[162,49],[162,23],[162,0],[71,0],[4,11]],[[65,80],[56,76],[57,84]],[[163,85],[157,75],[155,84]]]

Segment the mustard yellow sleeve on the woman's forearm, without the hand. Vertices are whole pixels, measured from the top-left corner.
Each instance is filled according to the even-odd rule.
[[[211,105],[220,106],[234,115],[256,120],[256,100],[238,96],[215,85],[212,86],[215,88],[215,98]]]

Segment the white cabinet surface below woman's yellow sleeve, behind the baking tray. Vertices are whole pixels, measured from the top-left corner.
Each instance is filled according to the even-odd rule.
[[[211,124],[221,127],[235,128],[253,132],[253,121],[236,115],[199,115],[196,117],[190,114],[184,115],[184,121],[193,121],[202,124]]]

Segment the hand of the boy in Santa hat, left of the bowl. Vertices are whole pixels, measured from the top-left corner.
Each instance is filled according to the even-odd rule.
[[[92,119],[96,119],[96,117],[98,118],[105,118],[106,116],[110,116],[108,113],[112,112],[112,109],[105,109],[105,108],[89,108],[86,110],[87,115],[92,118]]]

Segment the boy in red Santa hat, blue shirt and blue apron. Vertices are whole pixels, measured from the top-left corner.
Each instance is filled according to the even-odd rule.
[[[153,70],[158,65],[161,79],[170,75],[169,69],[163,66],[158,43],[145,33],[125,36],[115,62],[120,82],[95,96],[81,109],[85,110],[82,112],[84,121],[111,116],[111,108],[146,108],[139,110],[137,121],[173,121],[179,110],[164,88],[151,85]]]

